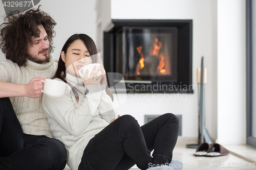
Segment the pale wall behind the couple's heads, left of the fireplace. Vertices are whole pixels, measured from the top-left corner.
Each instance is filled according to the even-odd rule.
[[[48,13],[56,22],[56,36],[53,39],[55,46],[53,56],[58,60],[61,48],[66,40],[73,34],[83,33],[89,35],[96,41],[96,0],[44,0],[40,1],[40,9]],[[2,2],[0,3],[0,24],[3,23],[5,15]],[[35,7],[38,7],[36,5]],[[0,61],[5,59],[2,51]]]

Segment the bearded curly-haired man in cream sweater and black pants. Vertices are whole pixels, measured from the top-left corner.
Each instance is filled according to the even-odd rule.
[[[57,68],[52,38],[56,22],[45,12],[11,14],[0,26],[0,169],[63,169],[67,150],[51,138],[42,110],[44,83]]]

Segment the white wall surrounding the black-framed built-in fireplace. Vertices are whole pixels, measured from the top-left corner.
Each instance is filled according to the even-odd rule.
[[[121,114],[135,116],[140,124],[144,114],[163,114],[172,112],[182,115],[182,136],[198,136],[198,107],[196,68],[200,67],[201,57],[205,57],[208,82],[206,85],[206,127],[212,136],[217,137],[217,95],[216,68],[212,64],[213,46],[216,44],[216,28],[212,26],[212,1],[210,0],[130,0],[111,1],[112,19],[193,19],[193,85],[194,94],[186,94],[186,100],[178,99],[178,94],[159,94],[158,98],[143,100],[144,94],[129,95],[128,100],[119,108]],[[215,29],[215,30],[214,30]],[[181,94],[179,94],[181,97]],[[139,99],[141,96],[141,99]],[[174,99],[176,96],[176,99]],[[184,96],[184,95],[183,95]],[[135,100],[137,97],[138,100]],[[132,99],[134,98],[134,100]],[[169,99],[168,99],[169,98]],[[172,98],[172,99],[171,99]],[[174,99],[174,100],[173,100]]]

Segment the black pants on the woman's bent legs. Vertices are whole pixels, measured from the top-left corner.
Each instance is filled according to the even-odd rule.
[[[170,163],[178,131],[179,119],[172,113],[161,115],[142,127],[134,117],[121,116],[89,141],[78,169],[124,170],[135,163],[140,169],[146,169],[149,163]]]

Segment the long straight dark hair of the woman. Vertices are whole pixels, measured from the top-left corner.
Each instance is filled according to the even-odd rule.
[[[98,54],[97,52],[97,47],[93,41],[93,39],[91,37],[89,37],[86,34],[74,34],[72,35],[64,44],[64,46],[62,47],[61,52],[63,51],[65,54],[67,54],[67,50],[68,47],[75,41],[75,40],[81,40],[84,45],[87,47],[87,50],[90,54],[90,56]],[[97,57],[92,57],[93,63],[97,63]],[[61,58],[61,54],[59,57],[59,61],[58,61],[58,67],[56,70],[55,75],[53,76],[52,79],[58,78],[60,80],[62,80],[63,82],[69,84],[72,88],[72,91],[74,92],[75,96],[76,96],[76,101],[78,102],[79,97],[78,97],[78,92],[80,92],[77,88],[75,88],[74,86],[72,86],[70,83],[67,82],[66,80],[66,67],[65,67],[65,62],[62,60]],[[114,100],[114,96],[112,94],[112,92],[110,91],[109,87],[106,86],[106,93],[111,97],[112,101]]]

